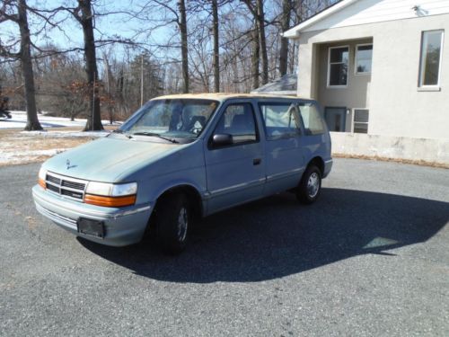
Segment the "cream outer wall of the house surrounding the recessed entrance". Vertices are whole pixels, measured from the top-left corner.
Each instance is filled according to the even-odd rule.
[[[367,0],[360,3],[368,2]],[[448,1],[434,3],[447,4]],[[445,30],[440,91],[421,92],[418,90],[421,34],[422,31],[430,30]],[[320,44],[372,38],[374,49],[367,106],[370,111],[368,133],[447,139],[449,138],[448,34],[449,14],[302,32],[299,37],[298,95],[312,98],[320,96],[319,80],[316,77],[322,71],[327,72],[327,67],[322,69],[319,66],[320,62],[317,61]],[[362,108],[351,105],[351,92],[343,93],[345,89],[339,90],[342,95],[348,95],[349,101],[346,104],[348,108]]]

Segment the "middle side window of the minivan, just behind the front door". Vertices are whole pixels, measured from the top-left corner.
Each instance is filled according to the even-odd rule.
[[[299,111],[291,103],[260,103],[267,139],[296,137],[300,134]]]

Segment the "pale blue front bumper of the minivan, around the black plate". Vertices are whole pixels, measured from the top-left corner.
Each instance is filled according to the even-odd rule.
[[[45,217],[69,232],[87,240],[113,246],[136,244],[145,233],[153,205],[136,205],[127,208],[105,208],[66,200],[45,191],[39,185],[32,189],[36,209]],[[84,217],[104,223],[104,238],[78,232],[76,221]]]

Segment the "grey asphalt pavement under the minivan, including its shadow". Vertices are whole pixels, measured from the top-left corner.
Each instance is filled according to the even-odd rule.
[[[0,169],[0,335],[447,336],[449,171],[337,159],[321,199],[207,218],[186,253],[69,235]]]

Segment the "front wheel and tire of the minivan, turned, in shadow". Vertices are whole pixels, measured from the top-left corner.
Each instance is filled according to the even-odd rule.
[[[192,211],[184,194],[176,193],[160,200],[156,208],[156,240],[163,253],[179,254],[187,244]]]

